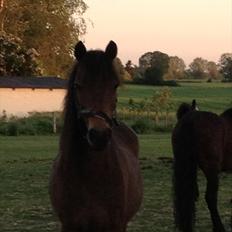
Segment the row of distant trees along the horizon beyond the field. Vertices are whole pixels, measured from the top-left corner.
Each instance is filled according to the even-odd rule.
[[[190,78],[232,81],[232,53],[222,54],[218,63],[197,57],[186,67],[178,56],[160,51],[146,52],[139,58],[138,66],[129,60],[125,70],[128,80],[141,84],[172,85],[175,84],[173,80]]]

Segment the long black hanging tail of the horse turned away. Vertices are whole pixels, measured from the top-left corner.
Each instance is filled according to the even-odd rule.
[[[182,149],[174,151],[174,218],[179,231],[192,232],[198,198],[197,161],[192,152],[184,153]]]

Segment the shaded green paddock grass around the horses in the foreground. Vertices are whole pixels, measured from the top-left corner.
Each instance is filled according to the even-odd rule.
[[[128,231],[170,232],[173,230],[170,134],[141,135],[139,138],[144,202]],[[57,154],[58,137],[0,137],[0,147],[0,231],[58,231],[48,197],[49,173]],[[231,183],[232,175],[223,174],[219,205],[227,227],[231,216]],[[209,232],[211,221],[203,199],[205,180],[201,173],[199,185],[197,231]]]

